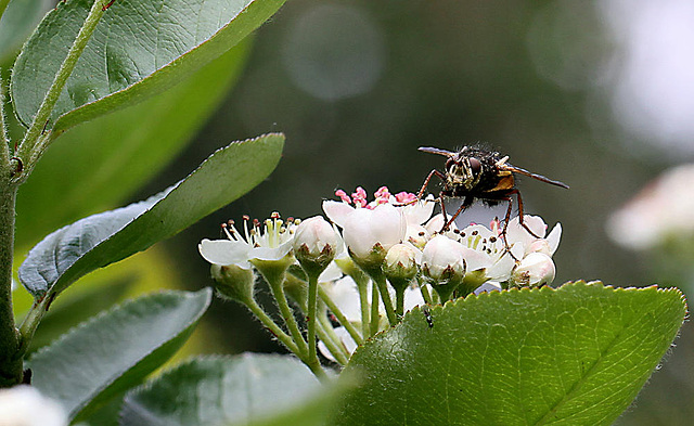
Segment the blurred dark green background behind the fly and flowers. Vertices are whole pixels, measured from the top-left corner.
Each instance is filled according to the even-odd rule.
[[[563,225],[556,284],[658,283],[692,296],[694,259],[682,268],[689,275],[666,275],[656,256],[605,231],[648,181],[694,160],[692,22],[686,0],[288,1],[256,33],[245,69],[194,141],[124,204],[182,179],[231,140],[286,134],[268,181],[155,247],[167,273],[196,289],[211,284],[197,243],[218,237],[219,223],[319,215],[338,188],[416,192],[442,166],[419,146],[484,142],[571,186],[519,182],[526,214]],[[503,211],[470,215],[485,214]],[[231,302],[215,301],[205,330],[204,350],[280,350]],[[676,344],[618,425],[691,424],[690,323]]]

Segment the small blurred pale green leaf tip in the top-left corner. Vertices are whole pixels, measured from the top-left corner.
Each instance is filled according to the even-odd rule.
[[[7,61],[53,5],[51,0],[12,0],[0,20],[0,63]]]

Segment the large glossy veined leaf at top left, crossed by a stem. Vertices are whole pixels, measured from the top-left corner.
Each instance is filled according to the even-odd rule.
[[[92,3],[59,3],[24,46],[11,89],[15,111],[25,125],[38,111]],[[116,0],[55,105],[51,115],[54,133],[171,87],[228,51],[283,3]]]

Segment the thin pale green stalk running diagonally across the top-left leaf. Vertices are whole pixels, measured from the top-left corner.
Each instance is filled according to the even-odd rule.
[[[48,134],[42,138],[43,129],[51,116],[51,113],[53,112],[53,108],[55,107],[55,103],[57,102],[67,79],[73,74],[73,69],[75,69],[75,66],[77,65],[79,56],[81,56],[85,48],[87,47],[87,42],[94,33],[94,29],[97,29],[97,24],[99,24],[99,21],[104,15],[105,11],[103,10],[103,7],[107,3],[108,0],[95,0],[92,4],[87,18],[85,20],[85,24],[82,24],[79,29],[73,46],[67,51],[65,60],[55,74],[53,83],[46,92],[46,96],[43,96],[43,101],[34,116],[31,126],[29,126],[29,129],[24,134],[24,139],[15,154],[17,157],[22,158],[24,163],[25,172],[22,173],[22,180],[28,177],[30,171],[34,169],[34,166],[50,144],[51,138],[48,137]]]

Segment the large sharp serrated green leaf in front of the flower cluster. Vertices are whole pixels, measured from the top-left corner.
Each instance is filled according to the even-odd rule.
[[[336,425],[609,425],[686,313],[677,288],[568,283],[420,309],[368,341]]]

